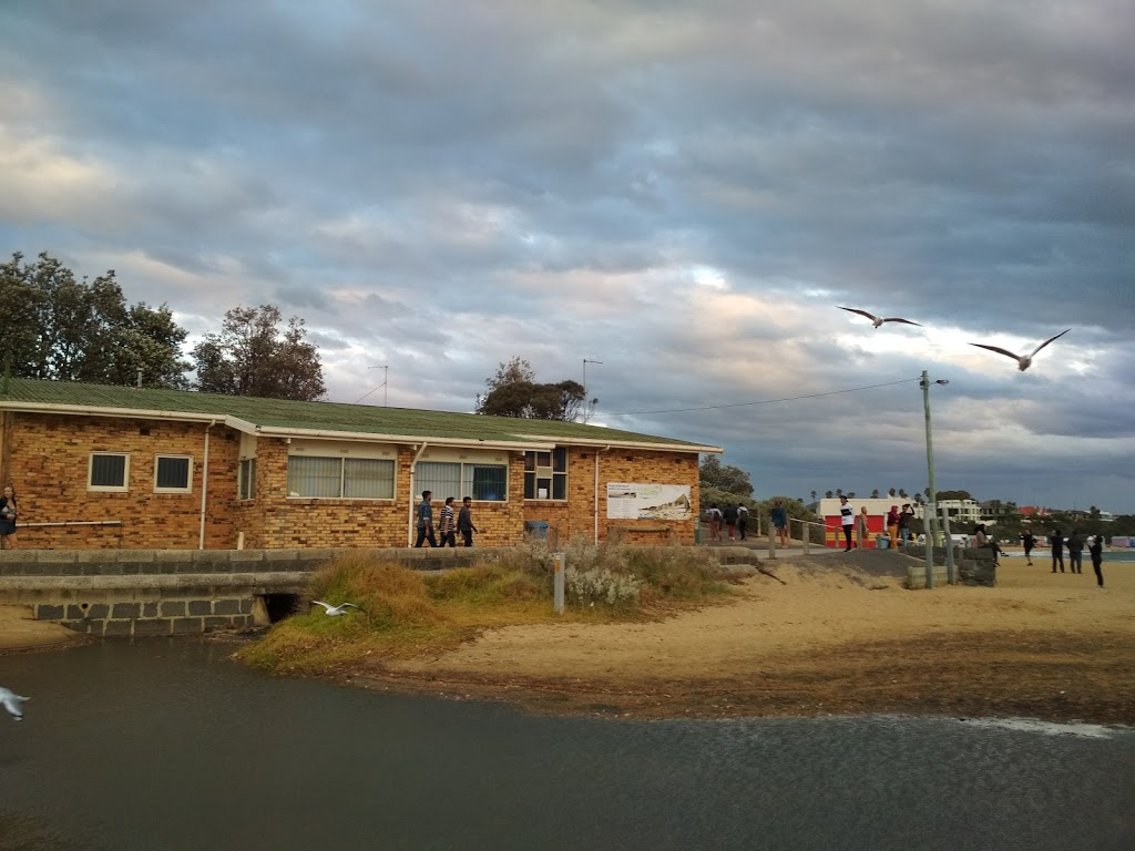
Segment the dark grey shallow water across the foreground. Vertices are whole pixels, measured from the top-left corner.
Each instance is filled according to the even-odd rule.
[[[0,658],[0,851],[1135,848],[1135,731],[528,717],[232,648]]]

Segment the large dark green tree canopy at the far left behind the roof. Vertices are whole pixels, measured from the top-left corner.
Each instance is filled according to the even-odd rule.
[[[186,331],[169,307],[128,305],[108,270],[93,281],[43,252],[0,264],[0,335],[14,376],[186,388]]]

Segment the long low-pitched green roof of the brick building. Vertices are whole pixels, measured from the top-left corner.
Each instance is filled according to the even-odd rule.
[[[522,420],[448,411],[407,407],[345,405],[336,402],[297,402],[251,396],[226,396],[188,390],[168,390],[109,385],[89,385],[11,378],[0,391],[0,410],[36,410],[43,405],[65,408],[118,408],[124,416],[158,411],[176,418],[232,416],[261,429],[303,429],[359,435],[392,435],[422,439],[470,441],[658,444],[688,452],[718,450],[686,440],[640,435],[602,426],[557,420]],[[720,450],[718,450],[720,452]]]

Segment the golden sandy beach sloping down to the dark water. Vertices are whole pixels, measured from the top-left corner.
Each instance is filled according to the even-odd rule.
[[[765,562],[721,605],[649,623],[489,631],[344,676],[630,717],[909,713],[1135,724],[1135,565],[1107,590],[1007,558],[995,588],[902,588],[871,551]],[[892,562],[893,563],[893,562]],[[893,573],[893,572],[892,572]],[[783,584],[782,584],[783,583]]]

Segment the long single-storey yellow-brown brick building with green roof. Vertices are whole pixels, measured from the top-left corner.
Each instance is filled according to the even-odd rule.
[[[693,542],[701,446],[548,420],[8,379],[20,548],[402,547],[434,491],[479,546]]]

